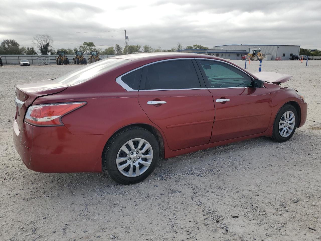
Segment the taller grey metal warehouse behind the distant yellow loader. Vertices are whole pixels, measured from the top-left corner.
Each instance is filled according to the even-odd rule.
[[[272,55],[272,60],[280,58],[281,60],[289,60],[293,54],[299,55],[300,45],[262,45],[262,44],[228,44],[214,46],[217,50],[245,50],[249,53],[252,49],[261,49],[261,52]],[[213,51],[211,49],[211,51]],[[237,58],[236,58],[237,59]]]

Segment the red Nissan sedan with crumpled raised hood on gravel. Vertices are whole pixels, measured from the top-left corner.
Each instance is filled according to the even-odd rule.
[[[115,56],[17,85],[14,145],[37,172],[107,170],[136,183],[160,158],[260,136],[289,140],[307,116],[304,95],[280,86],[291,78],[202,54]]]

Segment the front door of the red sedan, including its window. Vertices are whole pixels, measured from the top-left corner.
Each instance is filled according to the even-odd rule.
[[[231,64],[197,61],[215,105],[210,142],[264,132],[272,113],[270,91],[253,87],[253,78]]]

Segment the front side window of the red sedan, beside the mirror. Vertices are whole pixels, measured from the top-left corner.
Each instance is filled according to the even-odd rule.
[[[236,67],[210,60],[200,60],[203,75],[211,88],[252,87],[252,79]],[[205,79],[206,81],[206,79]]]

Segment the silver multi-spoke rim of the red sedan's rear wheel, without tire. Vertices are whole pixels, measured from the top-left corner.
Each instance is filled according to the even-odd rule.
[[[116,165],[124,176],[136,177],[148,169],[152,160],[153,149],[149,142],[142,138],[134,138],[120,147]]]

